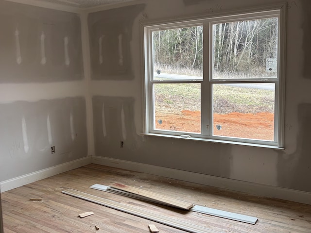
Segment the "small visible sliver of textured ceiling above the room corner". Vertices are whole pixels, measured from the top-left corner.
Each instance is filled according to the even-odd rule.
[[[57,3],[79,8],[89,8],[95,6],[102,6],[104,4],[120,3],[129,0],[40,0],[40,1]]]

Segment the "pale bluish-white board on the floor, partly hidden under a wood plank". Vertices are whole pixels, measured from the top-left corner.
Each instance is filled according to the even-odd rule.
[[[101,190],[104,192],[120,194],[122,196],[136,198],[139,200],[147,200],[147,201],[151,201],[151,202],[158,203],[158,204],[168,205],[165,202],[156,201],[156,200],[153,200],[150,198],[145,198],[145,197],[137,195],[137,194],[128,193],[128,192],[118,190],[118,189],[114,189],[114,188],[111,188],[109,186],[105,186],[102,184],[94,184],[94,185],[90,186],[90,188]],[[121,192],[119,192],[119,191],[121,191]],[[172,205],[170,205],[170,206],[172,206]],[[194,212],[198,212],[201,214],[223,217],[223,218],[227,218],[227,219],[231,219],[231,220],[235,220],[235,221],[239,221],[239,222],[245,222],[245,223],[249,223],[249,224],[253,224],[253,225],[258,221],[257,217],[236,214],[236,213],[223,211],[223,210],[217,210],[217,209],[208,208],[206,206],[201,206],[201,205],[197,205],[197,204],[195,206],[191,207],[189,210],[194,211]]]

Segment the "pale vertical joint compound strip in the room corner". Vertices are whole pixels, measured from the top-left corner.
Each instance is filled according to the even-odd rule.
[[[87,154],[94,155],[94,126],[93,126],[93,105],[92,95],[90,90],[91,83],[91,58],[88,38],[88,24],[87,13],[81,13],[81,39],[82,39],[82,53],[84,64],[84,83],[85,83],[85,95],[86,95],[86,129],[87,129]]]

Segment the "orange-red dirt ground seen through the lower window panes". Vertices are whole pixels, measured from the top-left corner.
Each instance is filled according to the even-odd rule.
[[[200,111],[183,110],[180,115],[156,114],[156,129],[200,133]],[[158,120],[162,120],[162,124]],[[216,125],[221,125],[217,130]],[[273,140],[273,113],[237,113],[214,114],[214,135]]]

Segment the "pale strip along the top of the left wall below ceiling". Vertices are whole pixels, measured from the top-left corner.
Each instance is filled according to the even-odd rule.
[[[72,13],[77,13],[77,14],[80,14],[83,11],[83,9],[78,8],[78,7],[62,5],[62,4],[52,3],[52,2],[47,2],[47,1],[39,1],[39,0],[5,0],[5,1],[12,1],[12,2],[21,3],[21,4],[38,6],[38,7],[59,10],[59,11],[67,11],[67,12],[72,12]]]

